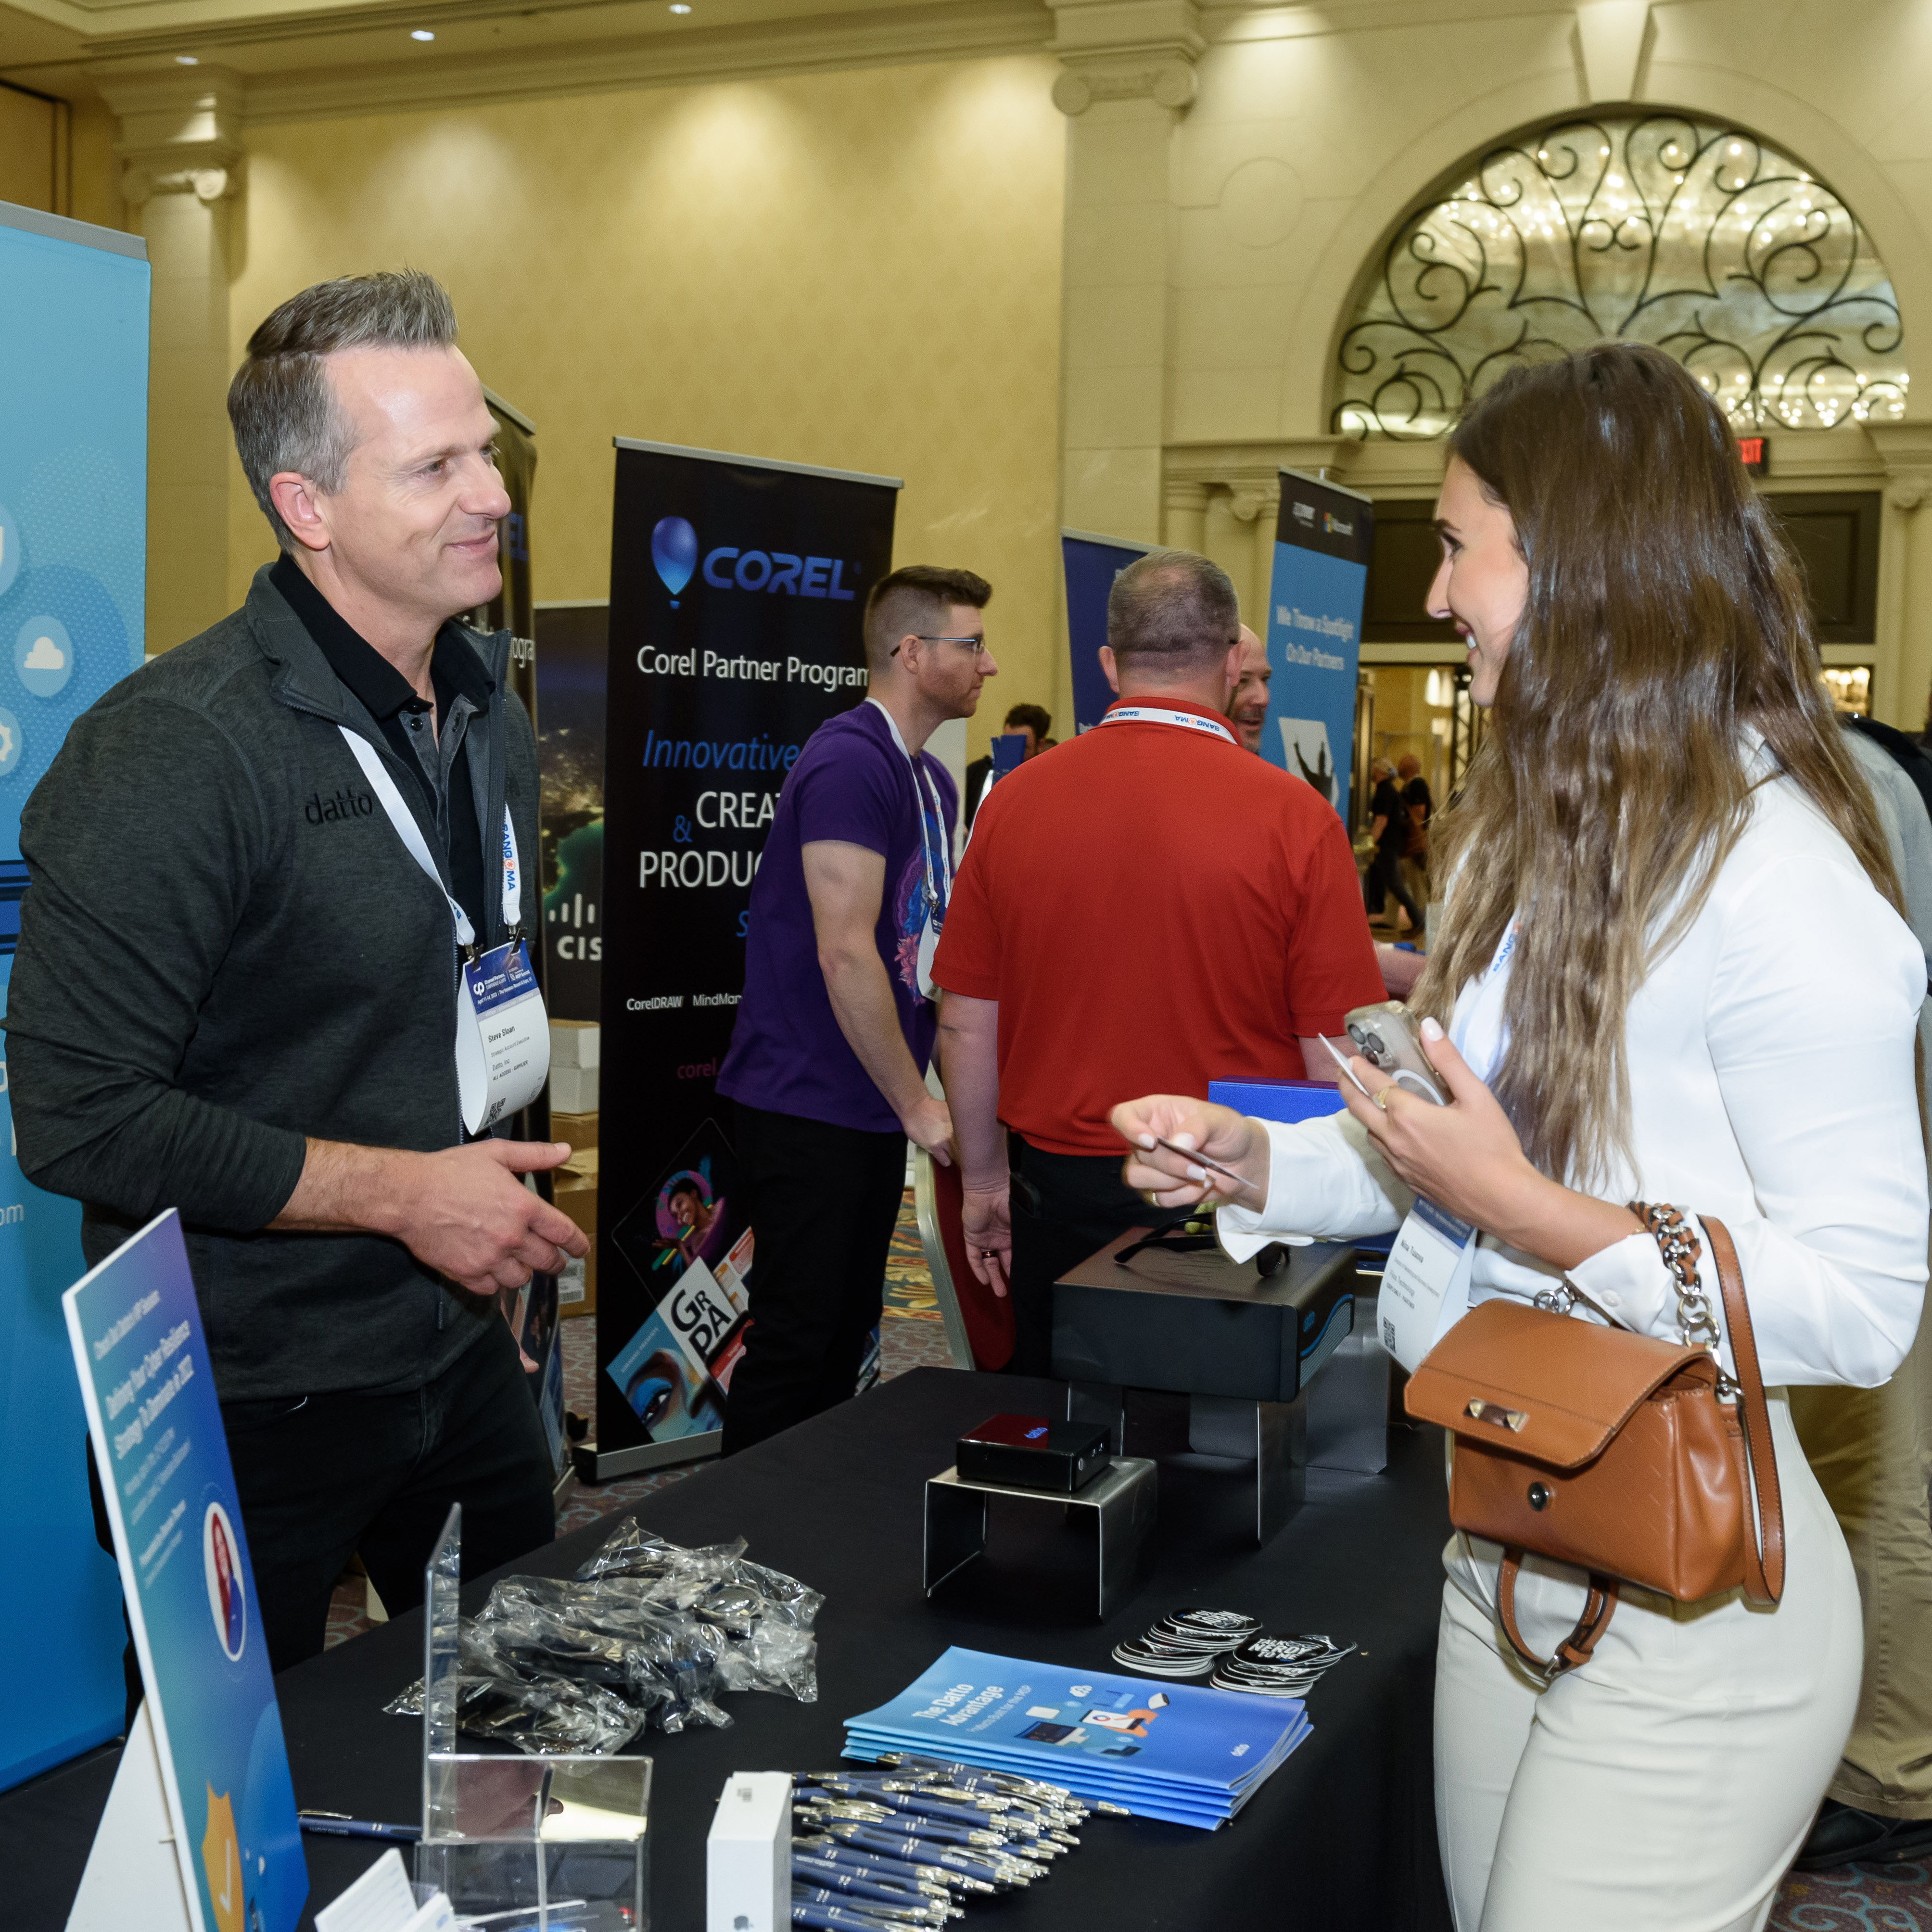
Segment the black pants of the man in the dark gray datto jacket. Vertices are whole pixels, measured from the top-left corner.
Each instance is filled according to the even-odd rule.
[[[450,1503],[464,1505],[466,1577],[556,1534],[551,1451],[498,1320],[421,1389],[222,1403],[222,1424],[278,1671],[321,1652],[352,1553],[388,1611],[421,1604]]]

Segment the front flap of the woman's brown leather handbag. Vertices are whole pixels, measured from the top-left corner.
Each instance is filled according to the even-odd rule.
[[[1702,1349],[1575,1321],[1524,1302],[1472,1308],[1424,1356],[1403,1406],[1468,1441],[1580,1468],[1673,1376],[1716,1381]]]

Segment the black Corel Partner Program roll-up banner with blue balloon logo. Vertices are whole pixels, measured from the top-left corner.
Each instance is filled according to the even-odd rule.
[[[618,440],[603,831],[597,1476],[717,1447],[752,1229],[717,1070],[806,738],[866,696],[898,481]]]

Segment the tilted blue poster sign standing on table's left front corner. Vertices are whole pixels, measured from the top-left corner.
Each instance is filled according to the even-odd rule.
[[[170,1208],[60,1298],[195,1932],[294,1932],[309,1872],[247,1532]],[[156,1922],[166,1922],[156,1911]]]

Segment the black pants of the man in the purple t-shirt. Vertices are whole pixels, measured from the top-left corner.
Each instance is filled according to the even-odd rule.
[[[724,1403],[724,1455],[852,1399],[885,1306],[906,1136],[736,1103],[752,1200],[752,1325]]]

